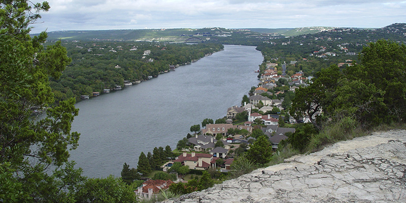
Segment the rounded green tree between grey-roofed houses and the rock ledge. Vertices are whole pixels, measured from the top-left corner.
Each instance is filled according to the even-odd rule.
[[[266,136],[262,135],[257,138],[247,153],[247,158],[258,164],[265,164],[270,161],[272,147]]]

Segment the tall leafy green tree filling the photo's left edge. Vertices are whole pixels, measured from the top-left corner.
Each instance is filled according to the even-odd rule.
[[[64,170],[69,149],[78,145],[79,133],[71,132],[78,109],[74,99],[52,106],[49,78],[58,79],[71,59],[60,42],[44,49],[46,32],[28,35],[30,24],[49,8],[47,2],[0,3],[0,163],[5,173],[0,188],[10,186],[6,195],[0,192],[5,202],[67,201],[63,196],[69,189],[58,185],[64,181],[49,168]],[[33,111],[45,108],[46,118],[32,118]],[[63,191],[58,192],[58,187]]]

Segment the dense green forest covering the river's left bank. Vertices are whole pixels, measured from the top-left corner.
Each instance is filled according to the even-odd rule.
[[[50,46],[58,41],[45,43]],[[103,89],[124,86],[124,81],[147,80],[223,49],[221,44],[159,44],[148,42],[62,41],[72,62],[50,84],[56,102]],[[146,51],[146,52],[145,52]]]

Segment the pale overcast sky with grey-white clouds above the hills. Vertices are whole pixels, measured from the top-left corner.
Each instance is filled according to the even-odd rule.
[[[42,2],[42,1],[33,1]],[[384,27],[406,0],[49,0],[31,33],[145,28]]]

